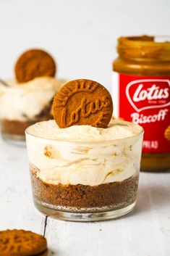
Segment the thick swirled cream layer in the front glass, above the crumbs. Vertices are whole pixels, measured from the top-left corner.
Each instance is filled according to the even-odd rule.
[[[132,123],[62,129],[50,120],[27,128],[26,140],[30,165],[45,183],[96,186],[124,181],[140,170],[143,128]]]

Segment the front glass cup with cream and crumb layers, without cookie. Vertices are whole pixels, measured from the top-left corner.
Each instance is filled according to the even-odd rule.
[[[136,135],[112,141],[46,139],[27,128],[35,207],[71,221],[108,220],[130,212],[137,200],[143,143],[143,129],[135,126]]]

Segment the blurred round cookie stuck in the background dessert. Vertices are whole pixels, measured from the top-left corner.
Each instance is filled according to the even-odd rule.
[[[41,76],[54,76],[56,64],[46,51],[31,49],[25,51],[17,60],[14,72],[17,81],[25,83]]]

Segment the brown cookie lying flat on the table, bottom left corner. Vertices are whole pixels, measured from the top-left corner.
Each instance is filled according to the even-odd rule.
[[[1,256],[47,256],[46,238],[31,231],[0,231]]]

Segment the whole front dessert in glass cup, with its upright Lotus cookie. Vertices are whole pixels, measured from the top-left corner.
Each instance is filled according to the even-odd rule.
[[[92,221],[135,207],[143,128],[111,120],[112,111],[106,88],[73,80],[54,98],[55,120],[27,128],[33,197],[41,212]]]

